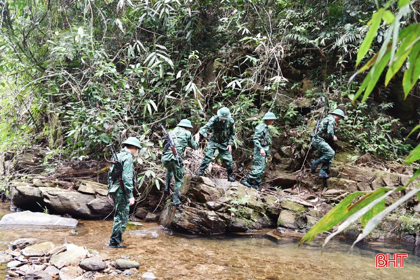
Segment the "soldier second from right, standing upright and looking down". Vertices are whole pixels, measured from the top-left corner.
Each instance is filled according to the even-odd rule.
[[[252,164],[252,171],[248,174],[248,177],[241,183],[248,188],[254,188],[259,190],[259,184],[261,184],[262,176],[264,175],[266,158],[270,155],[271,147],[271,133],[269,125],[273,124],[276,120],[276,116],[273,113],[268,112],[264,115],[260,124],[255,127],[254,134],[254,162]]]

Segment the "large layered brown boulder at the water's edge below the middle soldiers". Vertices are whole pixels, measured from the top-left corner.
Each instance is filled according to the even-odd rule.
[[[285,206],[300,212],[312,204],[286,193],[257,192],[238,182],[224,179],[187,176],[181,187],[182,200],[190,201],[177,208],[168,201],[159,223],[195,234],[222,234],[275,228]]]

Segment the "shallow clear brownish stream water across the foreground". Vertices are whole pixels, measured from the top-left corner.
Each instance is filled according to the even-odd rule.
[[[8,213],[0,206],[0,218]],[[140,263],[139,272],[152,272],[157,279],[418,279],[420,258],[414,247],[399,243],[359,244],[333,239],[323,254],[323,239],[297,249],[299,236],[273,240],[264,235],[189,236],[168,231],[156,223],[129,226],[123,238],[126,249],[107,248],[112,220],[80,220],[76,229],[29,227],[0,228],[0,250],[18,238],[38,238],[98,250],[111,258],[129,258]],[[408,253],[404,268],[375,268],[378,253]],[[2,275],[1,275],[2,274]],[[141,275],[140,274],[140,275]],[[4,272],[0,271],[0,279]],[[132,277],[132,279],[134,279]],[[102,278],[106,279],[106,278]]]

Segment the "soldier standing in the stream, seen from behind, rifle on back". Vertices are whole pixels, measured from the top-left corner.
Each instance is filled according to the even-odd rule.
[[[123,241],[122,236],[128,222],[129,206],[134,204],[133,188],[136,178],[134,175],[132,155],[137,152],[138,148],[141,148],[140,141],[135,137],[128,137],[123,142],[123,149],[116,155],[117,159],[111,159],[114,161],[120,160],[123,165],[123,183],[126,192],[125,196],[119,180],[112,181],[111,176],[115,172],[115,165],[111,165],[108,172],[108,194],[109,199],[114,202],[115,207],[114,225],[112,226],[112,234],[108,244],[108,247],[111,248],[127,247],[120,245],[120,243]]]

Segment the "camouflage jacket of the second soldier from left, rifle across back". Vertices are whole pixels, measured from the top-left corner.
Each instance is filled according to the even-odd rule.
[[[168,132],[170,136],[172,136],[173,142],[175,143],[175,148],[178,151],[179,157],[184,153],[185,147],[190,147],[191,149],[197,150],[198,143],[193,140],[193,136],[191,132],[186,130],[183,127],[177,126],[172,131]],[[163,145],[165,146],[167,141],[165,140]],[[162,155],[162,160],[169,161],[169,160],[176,160],[175,155],[172,153],[170,147],[168,150]]]

